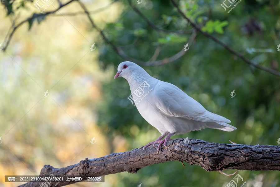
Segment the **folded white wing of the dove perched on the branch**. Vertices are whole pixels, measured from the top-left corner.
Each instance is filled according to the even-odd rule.
[[[167,116],[193,119],[202,122],[231,122],[229,119],[209,112],[177,86],[167,82],[159,81],[156,84],[153,99],[155,101],[154,107]]]

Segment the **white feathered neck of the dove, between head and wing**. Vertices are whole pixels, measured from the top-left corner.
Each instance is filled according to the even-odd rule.
[[[150,76],[144,69],[134,70],[129,77],[125,77],[128,81],[131,90],[135,90],[144,81],[149,85],[154,86],[157,83],[157,79]]]

